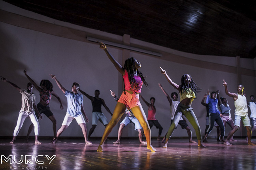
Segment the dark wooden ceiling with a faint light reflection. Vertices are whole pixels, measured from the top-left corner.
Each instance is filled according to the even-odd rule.
[[[4,0],[54,19],[202,55],[256,57],[256,1]]]

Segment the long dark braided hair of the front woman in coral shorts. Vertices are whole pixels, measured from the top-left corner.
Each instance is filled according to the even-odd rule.
[[[133,88],[133,85],[135,83],[135,79],[134,79],[134,76],[133,76],[134,75],[134,68],[135,68],[135,59],[133,57],[130,57],[125,61],[124,69],[128,73],[129,82],[130,82],[132,88]],[[141,78],[141,80],[145,84],[145,86],[147,87],[148,84],[147,84],[145,78],[143,77],[142,72],[137,70],[137,74]]]

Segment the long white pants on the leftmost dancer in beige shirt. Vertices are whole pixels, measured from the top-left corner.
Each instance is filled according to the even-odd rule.
[[[35,116],[35,112],[27,112],[27,111],[19,111],[19,117],[17,120],[17,125],[14,129],[13,136],[17,136],[19,133],[19,130],[22,128],[22,125],[27,117],[30,117],[31,122],[34,124],[34,132],[35,136],[39,135],[39,122],[37,120],[37,117]]]

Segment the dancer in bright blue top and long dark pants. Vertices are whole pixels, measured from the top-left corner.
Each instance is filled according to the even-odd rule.
[[[224,142],[225,128],[224,128],[222,119],[219,116],[220,112],[218,111],[218,105],[221,105],[221,100],[219,99],[219,90],[217,90],[216,92],[213,91],[211,93],[211,98],[208,93],[206,104],[208,104],[209,106],[209,127],[206,130],[206,134],[203,138],[203,142],[207,142],[206,138],[212,131],[215,121],[219,125],[219,128],[221,128],[221,141]]]

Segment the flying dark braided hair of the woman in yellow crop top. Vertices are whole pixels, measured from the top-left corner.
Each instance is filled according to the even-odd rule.
[[[186,85],[186,82],[185,82],[185,77],[189,75],[190,77],[190,83],[188,84],[188,86]],[[189,89],[191,89],[195,95],[197,96],[197,92],[200,92],[199,90],[201,90],[199,88],[199,86],[197,86],[197,84],[193,81],[192,77],[190,74],[184,74],[182,77],[181,77],[181,88],[180,88],[180,92],[181,94],[183,94],[185,91],[186,92],[189,92]]]

